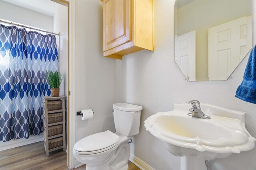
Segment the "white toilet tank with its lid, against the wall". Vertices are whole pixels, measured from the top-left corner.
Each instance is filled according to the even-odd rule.
[[[133,104],[113,104],[116,131],[124,136],[137,135],[140,129],[141,110],[142,106]]]

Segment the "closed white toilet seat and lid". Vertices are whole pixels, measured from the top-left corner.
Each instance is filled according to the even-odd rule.
[[[78,141],[74,145],[76,154],[96,154],[112,149],[120,143],[120,137],[111,131],[95,133]]]

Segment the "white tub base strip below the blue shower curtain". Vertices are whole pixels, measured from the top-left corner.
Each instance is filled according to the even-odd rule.
[[[28,139],[11,139],[8,142],[0,142],[0,151],[6,150],[6,149],[12,149],[12,148],[16,148],[16,147],[21,147],[23,145],[29,145],[31,143],[36,143],[36,142],[40,142],[43,141],[44,134],[41,133],[40,135],[34,136],[34,135],[30,135],[30,137]]]

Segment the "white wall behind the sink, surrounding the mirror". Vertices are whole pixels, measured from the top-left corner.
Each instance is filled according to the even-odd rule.
[[[155,51],[139,51],[117,60],[116,102],[143,106],[140,133],[134,137],[131,153],[157,170],[180,169],[180,158],[173,156],[144,127],[144,121],[158,111],[170,111],[174,103],[192,99],[246,112],[246,128],[256,137],[256,105],[235,98],[248,56],[227,81],[188,82],[174,62],[174,1],[154,1]],[[254,18],[255,23],[255,18]],[[254,29],[255,32],[255,29]],[[254,34],[254,38],[256,35]],[[255,39],[256,40],[256,39]],[[204,129],[207,131],[207,129]],[[212,170],[256,168],[256,148],[215,159]]]

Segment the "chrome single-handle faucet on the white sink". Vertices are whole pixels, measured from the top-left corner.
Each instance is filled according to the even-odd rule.
[[[198,117],[198,118],[202,118],[202,119],[210,119],[211,117],[204,114],[201,110],[201,107],[200,107],[200,102],[198,100],[191,100],[187,103],[191,103],[192,105],[192,108],[189,109],[189,111],[191,113],[188,113],[189,116],[192,116],[192,117]]]

